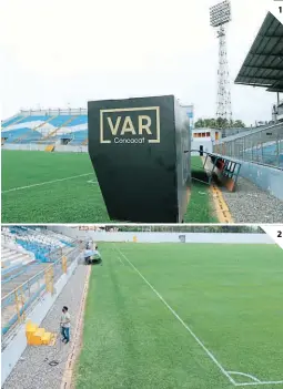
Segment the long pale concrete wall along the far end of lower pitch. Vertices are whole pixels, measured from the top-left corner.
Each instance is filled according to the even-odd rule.
[[[135,237],[138,243],[180,243],[180,235],[185,235],[186,243],[274,244],[264,234],[105,233],[79,231],[79,227],[50,226],[48,228],[73,238],[92,238],[94,242],[133,242]]]

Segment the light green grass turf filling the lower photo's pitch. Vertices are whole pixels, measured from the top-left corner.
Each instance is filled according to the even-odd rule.
[[[125,257],[225,370],[283,380],[277,246],[129,243],[100,249],[103,266],[91,273],[77,389],[234,387]]]

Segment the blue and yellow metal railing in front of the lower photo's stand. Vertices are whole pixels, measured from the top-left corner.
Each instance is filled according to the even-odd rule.
[[[68,272],[81,249],[82,245],[78,243],[75,247],[63,247],[52,252],[51,264],[43,264],[42,270],[1,298],[2,340],[26,320],[29,311],[46,293],[53,294],[54,284]]]

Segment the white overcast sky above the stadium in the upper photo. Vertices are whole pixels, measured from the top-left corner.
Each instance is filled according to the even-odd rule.
[[[218,0],[2,0],[2,116],[88,100],[174,94],[214,116]],[[271,120],[276,95],[234,85],[270,0],[232,0],[228,28],[233,117]]]

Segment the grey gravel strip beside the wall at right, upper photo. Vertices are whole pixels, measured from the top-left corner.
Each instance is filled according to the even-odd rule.
[[[222,188],[235,223],[283,223],[283,202],[239,177],[236,192]]]

